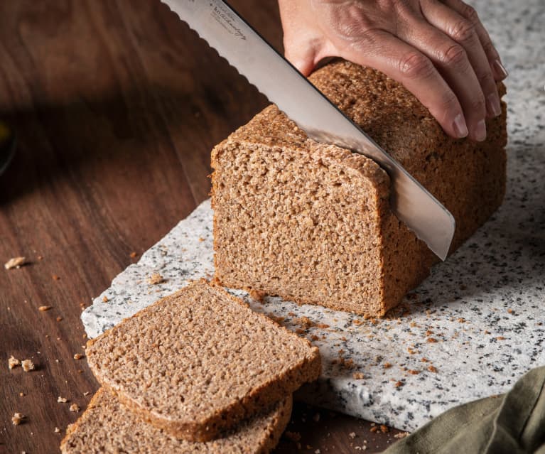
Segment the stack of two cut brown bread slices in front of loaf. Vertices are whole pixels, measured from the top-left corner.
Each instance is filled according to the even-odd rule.
[[[268,453],[318,348],[197,281],[87,344],[102,387],[63,453]]]

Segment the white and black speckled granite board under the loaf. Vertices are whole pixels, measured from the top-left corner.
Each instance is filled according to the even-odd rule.
[[[323,374],[301,399],[413,430],[451,406],[501,393],[545,364],[545,4],[475,6],[511,73],[504,205],[390,319],[372,323],[278,298],[252,301],[293,330],[303,316],[329,325],[305,332],[320,347]],[[188,279],[211,276],[211,220],[210,202],[203,202],[119,274],[82,314],[87,334],[97,336]],[[166,281],[151,285],[153,273]]]

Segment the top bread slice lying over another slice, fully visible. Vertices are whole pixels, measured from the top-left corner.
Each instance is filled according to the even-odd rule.
[[[317,347],[198,281],[87,342],[98,381],[178,438],[208,441],[320,374]]]

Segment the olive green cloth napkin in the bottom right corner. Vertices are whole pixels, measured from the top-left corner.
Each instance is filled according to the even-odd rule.
[[[457,406],[402,438],[384,454],[545,454],[545,367],[507,394]]]

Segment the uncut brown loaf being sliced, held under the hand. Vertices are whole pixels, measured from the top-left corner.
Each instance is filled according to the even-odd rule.
[[[451,252],[501,204],[504,103],[477,143],[448,137],[370,68],[339,61],[311,80],[446,205],[457,223]],[[225,286],[382,316],[437,261],[390,210],[377,163],[308,139],[274,105],[214,148],[212,168],[215,277]]]

